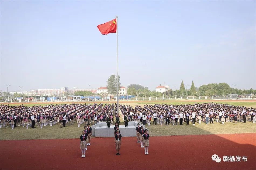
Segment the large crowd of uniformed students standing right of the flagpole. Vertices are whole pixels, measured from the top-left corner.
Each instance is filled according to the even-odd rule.
[[[136,113],[133,115],[134,120],[150,126],[151,118],[153,124],[183,125],[183,122],[189,125],[214,124],[214,122],[253,122],[255,123],[256,109],[244,106],[233,106],[219,103],[202,103],[202,104],[185,104],[185,105],[168,105],[155,104],[145,105],[144,107],[136,106]]]

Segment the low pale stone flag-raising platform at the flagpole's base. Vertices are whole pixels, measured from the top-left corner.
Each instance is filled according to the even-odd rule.
[[[124,125],[119,126],[119,130],[121,132],[121,135],[123,137],[131,137],[131,136],[136,136],[136,127],[137,127],[138,122],[128,122],[128,127],[125,127]],[[140,126],[144,126],[143,124],[140,123]],[[114,127],[115,126],[110,126],[108,128],[106,122],[99,122],[96,125],[92,125],[92,136],[95,137],[114,137]],[[144,130],[146,130],[144,126]],[[147,129],[148,130],[148,129]]]

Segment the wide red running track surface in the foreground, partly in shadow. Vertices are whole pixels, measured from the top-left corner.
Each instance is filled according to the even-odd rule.
[[[130,137],[117,156],[113,138],[94,138],[81,158],[79,139],[2,140],[0,169],[255,169],[255,141],[256,133],[150,137],[145,155]],[[248,158],[224,162],[225,155]]]

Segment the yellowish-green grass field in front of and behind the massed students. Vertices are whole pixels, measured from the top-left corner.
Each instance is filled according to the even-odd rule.
[[[113,103],[114,101],[110,101]],[[215,103],[227,103],[236,106],[246,106],[246,107],[256,107],[256,102],[230,102],[230,101],[212,101]],[[77,102],[75,102],[77,103]],[[89,103],[89,102],[88,102]],[[91,102],[93,103],[93,102]],[[103,102],[103,103],[109,103]],[[153,101],[153,102],[120,102],[120,104],[127,104],[132,107],[135,105],[144,106],[145,104],[155,104],[155,103],[164,103],[164,104],[193,104],[193,103],[204,103],[202,102],[195,102],[195,101]],[[49,103],[40,103],[40,105],[48,105]],[[63,104],[63,103],[53,103],[53,104]],[[85,104],[85,103],[83,103]],[[10,106],[20,105],[20,104],[13,104],[10,103]],[[23,103],[24,106],[34,106],[34,103]],[[123,124],[123,122],[121,122]],[[17,128],[11,130],[11,127],[0,128],[0,140],[21,140],[21,139],[63,139],[63,138],[79,138],[81,135],[81,131],[83,130],[83,126],[81,125],[80,128],[77,127],[77,123],[74,123],[71,126],[66,126],[65,128],[60,128],[59,125],[54,126],[45,126],[43,129],[37,127],[35,129],[29,128],[25,129],[22,126],[18,126]],[[203,134],[226,134],[226,133],[255,133],[256,132],[256,124],[252,122],[241,123],[238,122],[237,124],[231,122],[225,122],[224,125],[221,123],[214,122],[214,125],[209,124],[206,125],[202,123],[199,125],[196,123],[193,126],[191,123],[189,125],[178,125],[172,126],[172,123],[169,123],[169,126],[160,126],[160,125],[153,125],[153,121],[151,121],[151,126],[147,126],[150,130],[151,136],[169,136],[169,135],[203,135]],[[135,130],[135,129],[134,129]]]

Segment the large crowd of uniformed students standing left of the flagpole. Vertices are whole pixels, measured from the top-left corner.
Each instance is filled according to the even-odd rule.
[[[72,125],[77,122],[78,127],[81,124],[97,124],[104,122],[107,115],[110,114],[110,124],[113,124],[113,114],[116,112],[116,104],[57,104],[46,106],[9,106],[0,105],[0,128],[11,126],[14,129],[17,126],[35,128],[40,126],[59,124],[60,128],[66,125]],[[117,117],[117,115],[116,115]],[[119,120],[120,121],[120,120]]]

